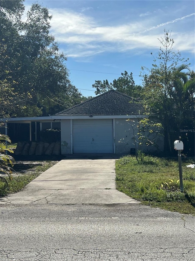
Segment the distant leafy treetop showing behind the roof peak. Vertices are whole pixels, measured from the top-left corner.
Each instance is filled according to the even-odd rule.
[[[130,73],[129,75],[127,71],[121,73],[121,77],[119,77],[117,80],[113,80],[112,83],[109,83],[108,80],[103,80],[103,82],[101,80],[95,80],[95,83],[92,85],[92,87],[96,88],[96,95],[106,91],[116,90],[133,98],[140,97],[142,91],[142,87],[135,84],[133,80],[133,73]]]

